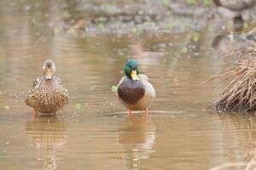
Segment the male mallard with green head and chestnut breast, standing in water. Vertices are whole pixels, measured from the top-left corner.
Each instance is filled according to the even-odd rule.
[[[117,96],[121,103],[131,111],[145,111],[148,116],[148,107],[155,97],[152,84],[148,77],[139,74],[137,62],[134,59],[128,60],[125,65],[125,77],[118,84]]]

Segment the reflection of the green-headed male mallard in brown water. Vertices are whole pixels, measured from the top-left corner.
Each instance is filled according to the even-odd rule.
[[[140,169],[140,160],[148,159],[155,143],[152,122],[141,116],[132,116],[119,127],[119,153],[125,153],[128,169]]]

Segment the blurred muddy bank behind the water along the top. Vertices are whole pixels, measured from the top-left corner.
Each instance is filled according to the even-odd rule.
[[[75,11],[75,12],[74,12]],[[256,8],[243,12],[246,27]],[[232,20],[223,18],[211,0],[186,1],[82,1],[64,7],[68,33],[131,34],[177,33],[208,29],[230,30]]]

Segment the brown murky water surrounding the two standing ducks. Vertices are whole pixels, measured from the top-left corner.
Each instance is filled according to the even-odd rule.
[[[2,3],[1,168],[210,169],[240,162],[241,169],[253,157],[256,117],[202,111],[219,94],[215,82],[203,82],[227,63],[211,47],[214,35],[75,37],[61,31],[59,8],[44,14]],[[159,42],[164,50],[153,48]],[[111,90],[131,56],[156,90],[148,120],[143,113],[129,119]],[[70,102],[59,116],[34,117],[23,98],[47,58]]]

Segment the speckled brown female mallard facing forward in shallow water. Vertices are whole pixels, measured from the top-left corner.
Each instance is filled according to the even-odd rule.
[[[55,64],[47,59],[43,65],[44,77],[38,77],[32,88],[26,94],[26,105],[31,106],[35,115],[41,113],[56,113],[68,103],[68,92],[63,82],[55,77]]]

